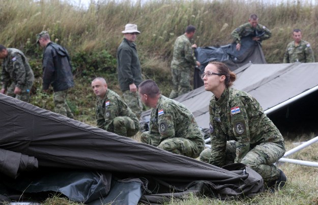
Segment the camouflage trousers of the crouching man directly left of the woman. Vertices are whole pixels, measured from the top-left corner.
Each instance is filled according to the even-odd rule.
[[[197,158],[203,150],[203,146],[182,137],[169,138],[160,142],[160,134],[150,134],[149,131],[143,132],[140,139],[143,143],[151,144],[162,150],[191,158]]]

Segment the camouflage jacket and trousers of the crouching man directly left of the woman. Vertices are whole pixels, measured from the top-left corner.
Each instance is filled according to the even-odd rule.
[[[141,134],[141,142],[192,158],[204,149],[203,134],[191,111],[164,96],[160,96],[157,107],[152,109],[150,130]]]

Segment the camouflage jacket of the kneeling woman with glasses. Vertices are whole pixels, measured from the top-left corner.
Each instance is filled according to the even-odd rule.
[[[212,150],[209,163],[213,165],[225,165],[227,140],[236,140],[235,163],[262,142],[284,146],[282,135],[261,105],[244,91],[225,89],[218,101],[212,96],[209,112]]]

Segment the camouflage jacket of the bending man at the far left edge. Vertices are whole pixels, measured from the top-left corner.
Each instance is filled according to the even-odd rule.
[[[16,48],[7,48],[7,50],[8,56],[2,62],[2,88],[7,89],[10,82],[14,82],[19,89],[26,84],[33,84],[34,74],[25,55]]]

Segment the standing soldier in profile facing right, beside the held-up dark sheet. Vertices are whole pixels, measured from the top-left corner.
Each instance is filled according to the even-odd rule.
[[[190,75],[194,66],[200,66],[192,50],[192,48],[196,48],[197,46],[196,44],[191,45],[190,43],[194,33],[195,27],[188,25],[185,34],[176,39],[174,55],[171,61],[172,91],[169,98],[177,98],[192,90]]]

